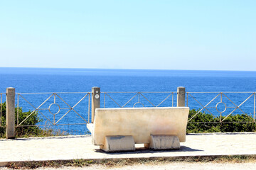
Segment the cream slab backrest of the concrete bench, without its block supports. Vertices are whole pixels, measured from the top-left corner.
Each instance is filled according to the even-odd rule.
[[[188,107],[97,108],[92,140],[103,145],[105,136],[132,135],[135,143],[149,143],[150,135],[177,135],[186,141]]]

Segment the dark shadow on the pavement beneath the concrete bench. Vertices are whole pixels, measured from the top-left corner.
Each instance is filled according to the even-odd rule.
[[[127,152],[127,151],[121,151],[121,152],[105,152],[101,149],[95,149],[95,152],[104,153],[104,154],[154,154],[154,153],[171,153],[171,152],[200,152],[203,151],[201,149],[193,149],[191,147],[185,147],[181,146],[181,149],[166,149],[166,150],[152,150],[147,149],[145,147],[137,147],[134,152]]]

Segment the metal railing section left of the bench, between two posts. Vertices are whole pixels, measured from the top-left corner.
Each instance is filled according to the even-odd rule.
[[[64,96],[61,96],[66,94],[72,96],[68,96],[68,98],[64,98]],[[23,105],[26,107],[26,111],[30,111],[30,114],[20,121],[19,109],[17,109],[16,127],[28,126],[23,125],[23,123],[25,123],[26,120],[28,120],[28,118],[31,117],[31,115],[33,115],[34,113],[38,113],[39,115],[43,116],[43,120],[45,123],[39,124],[40,126],[85,125],[86,123],[90,122],[90,92],[16,93],[16,95],[17,108],[21,108],[21,106]],[[39,97],[40,95],[41,97]],[[78,96],[80,96],[80,98]],[[70,102],[70,100],[72,100],[72,102]],[[81,109],[80,107],[77,110],[76,108],[82,101],[86,101],[85,103],[87,103],[87,106],[83,105],[83,109]],[[32,108],[32,111],[28,110],[28,108]],[[63,121],[64,118],[68,117],[71,112],[75,114],[73,114],[73,117],[70,117],[70,119],[75,119],[75,115],[76,117],[80,118],[79,122],[74,122],[74,120],[72,121],[72,123]],[[87,117],[87,120],[85,117]]]

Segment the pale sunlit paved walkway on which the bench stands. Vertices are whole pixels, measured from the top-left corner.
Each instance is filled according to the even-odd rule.
[[[4,162],[114,159],[148,157],[193,157],[210,155],[256,154],[256,133],[191,134],[179,150],[153,151],[137,145],[135,152],[107,153],[92,145],[92,137],[31,137],[0,140],[0,165]]]

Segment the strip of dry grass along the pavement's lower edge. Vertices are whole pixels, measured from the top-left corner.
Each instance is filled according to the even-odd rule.
[[[161,158],[134,158],[134,159],[74,159],[70,161],[40,161],[40,162],[11,162],[7,165],[10,169],[36,169],[39,167],[60,166],[92,166],[101,165],[108,168],[132,166],[136,164],[168,164],[171,162],[210,162],[210,163],[246,163],[256,162],[256,155],[237,155],[237,156],[207,156],[207,157],[161,157]]]

